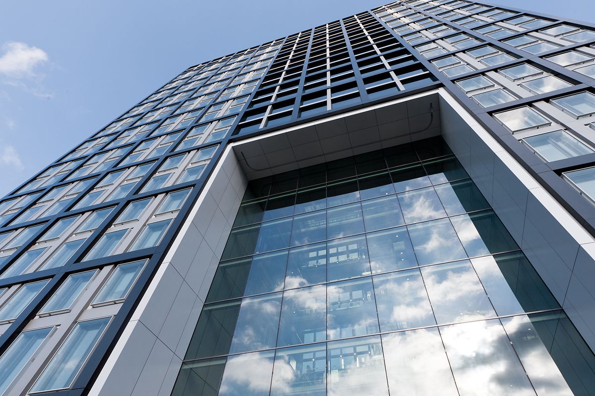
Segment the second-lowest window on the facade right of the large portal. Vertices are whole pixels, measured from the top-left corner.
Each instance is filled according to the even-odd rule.
[[[524,138],[523,141],[546,161],[556,161],[593,153],[591,148],[564,131]]]

